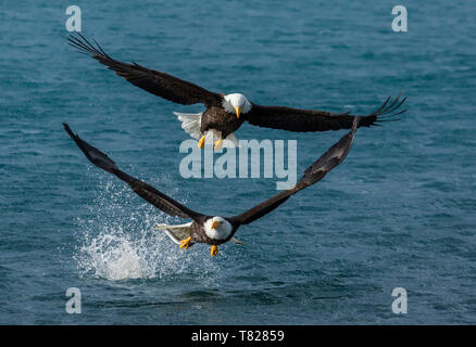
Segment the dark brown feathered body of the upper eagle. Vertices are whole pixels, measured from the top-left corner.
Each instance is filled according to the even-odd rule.
[[[222,106],[211,106],[202,115],[200,131],[202,134],[210,129],[222,131],[222,138],[238,130],[243,124],[243,117],[237,118],[236,114],[226,112]]]

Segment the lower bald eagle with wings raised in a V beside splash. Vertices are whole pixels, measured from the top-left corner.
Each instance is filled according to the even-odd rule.
[[[92,164],[108,172],[111,172],[129,184],[136,194],[170,216],[191,219],[190,222],[185,224],[159,224],[156,227],[158,229],[163,230],[175,243],[179,245],[180,248],[188,249],[188,247],[195,243],[208,243],[212,246],[210,254],[214,257],[218,253],[218,245],[230,240],[236,243],[240,243],[234,237],[240,226],[249,224],[270,214],[280,204],[286,202],[291,195],[318,182],[327,175],[328,171],[339,165],[349,153],[360,120],[362,120],[361,117],[354,118],[351,131],[342,137],[313,165],[311,165],[304,171],[304,176],[293,188],[283,191],[281,193],[268,198],[253,208],[234,217],[203,215],[189,209],[172,197],[158,191],[153,187],[118,169],[115,163],[108,157],[108,155],[82,140],[77,134],[73,133],[66,124],[64,124],[64,129]]]

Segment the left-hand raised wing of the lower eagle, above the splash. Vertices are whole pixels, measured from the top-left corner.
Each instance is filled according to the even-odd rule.
[[[126,172],[122,171],[117,168],[115,163],[104,153],[93,147],[83,139],[80,139],[77,134],[73,133],[67,124],[63,124],[64,130],[70,134],[70,137],[76,142],[79,150],[86,155],[86,157],[95,164],[97,167],[103,169],[104,171],[111,172],[112,175],[118,177],[121,180],[130,185],[133,191],[138,194],[140,197],[155,206],[156,208],[163,210],[170,216],[180,217],[185,219],[193,219],[203,216],[199,213],[196,213],[186,206],[181,205],[177,201],[172,197],[165,195],[164,193],[158,191],[153,187],[138,180]]]

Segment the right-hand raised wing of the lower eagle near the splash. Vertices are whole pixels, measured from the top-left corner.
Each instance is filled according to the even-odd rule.
[[[339,165],[347,156],[352,146],[353,138],[356,128],[360,126],[360,121],[363,118],[360,116],[354,117],[352,130],[343,136],[337,143],[335,143],[326,153],[324,153],[313,165],[311,165],[305,171],[304,176],[299,182],[291,189],[286,190],[272,198],[254,206],[253,208],[242,213],[241,215],[229,218],[235,223],[248,224],[254,220],[267,215],[280,204],[286,202],[291,195],[296,194],[300,190],[308,188],[318,181],[327,175],[333,168]]]

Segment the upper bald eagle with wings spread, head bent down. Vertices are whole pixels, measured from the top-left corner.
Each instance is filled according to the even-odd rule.
[[[95,47],[83,35],[78,35],[79,38],[68,37],[71,46],[80,53],[92,56],[133,85],[183,105],[204,104],[206,111],[203,113],[175,113],[181,121],[183,129],[199,140],[199,147],[203,147],[205,138],[206,141],[214,141],[216,150],[222,146],[224,139],[237,144],[234,132],[245,120],[259,127],[305,132],[350,129],[355,117],[350,112],[330,113],[317,110],[262,106],[250,102],[240,93],[211,92],[189,81],[149,69],[137,63],[128,64],[116,61],[109,56],[98,42],[95,41]],[[400,97],[393,102],[390,102],[389,97],[378,110],[362,116],[360,126],[377,125],[379,121],[389,120],[386,119],[388,117],[405,112],[406,110],[397,112],[406,99],[403,98],[400,101]]]

